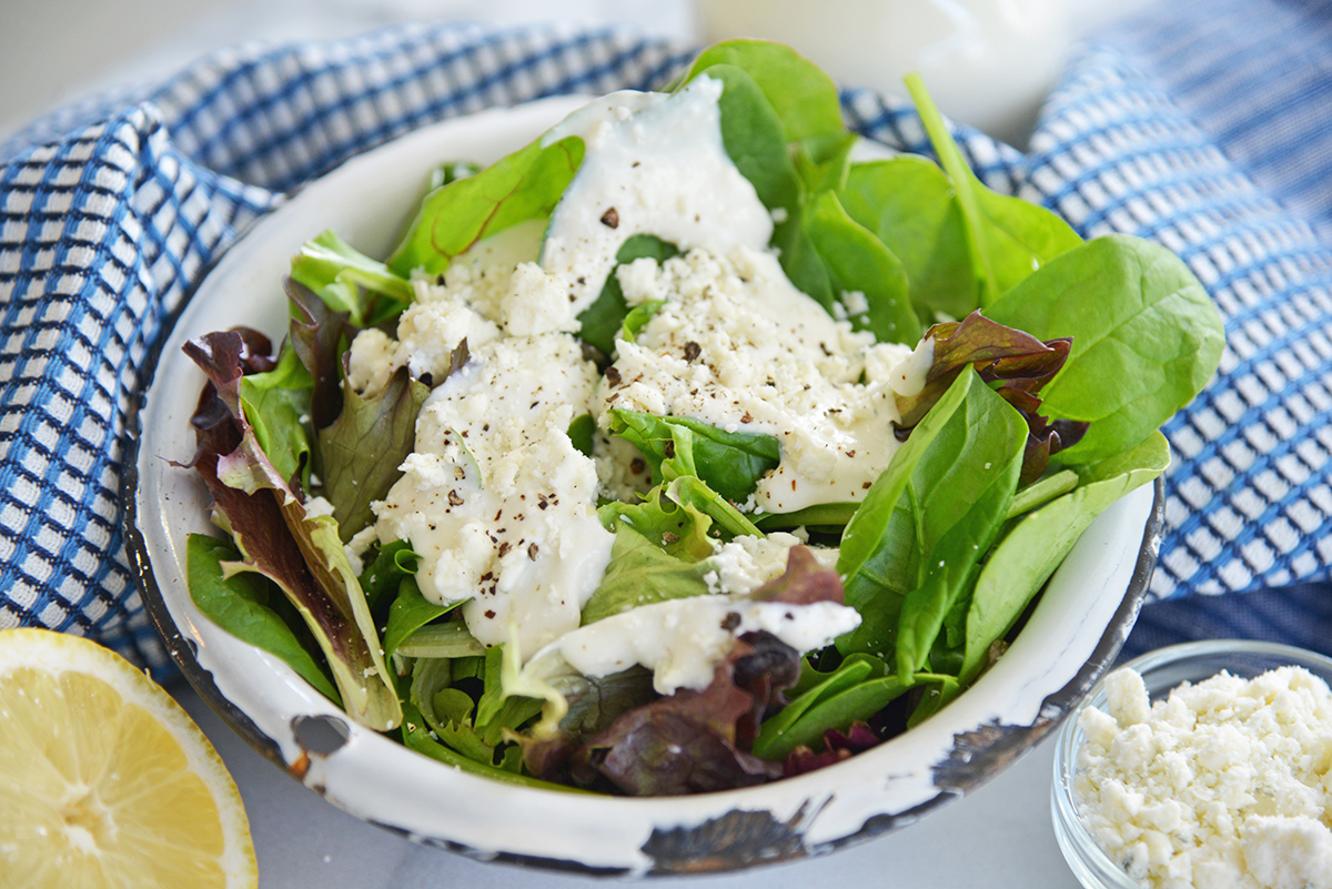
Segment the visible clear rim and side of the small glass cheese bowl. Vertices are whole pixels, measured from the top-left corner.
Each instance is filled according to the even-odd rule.
[[[1139,673],[1150,673],[1171,664],[1216,656],[1264,657],[1272,660],[1273,667],[1277,665],[1277,661],[1313,667],[1325,680],[1332,683],[1332,657],[1307,648],[1252,639],[1207,639],[1166,645],[1123,664],[1116,664],[1106,675],[1108,676],[1122,667],[1132,668]],[[1055,737],[1054,780],[1050,793],[1051,821],[1054,822],[1055,840],[1064,860],[1084,886],[1090,889],[1142,889],[1143,884],[1132,880],[1111,861],[1110,856],[1087,833],[1072,796],[1078,745],[1082,741],[1078,721],[1084,709],[1104,703],[1104,681],[1103,676],[1091,692],[1079,701],[1078,707],[1068,712],[1063,725],[1059,727],[1059,733]]]

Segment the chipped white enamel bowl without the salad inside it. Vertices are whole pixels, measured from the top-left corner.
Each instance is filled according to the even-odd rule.
[[[248,325],[281,338],[290,256],[332,228],[386,253],[432,165],[490,161],[579,100],[429,126],[360,156],[261,220],[204,277],[159,343],[127,462],[127,542],[149,614],[200,695],[260,752],[334,805],[422,842],[478,857],[601,873],[726,870],[826,852],[911,824],[1042,739],[1114,660],[1156,559],[1160,486],[1087,531],[1008,653],[956,701],[851,760],[763,787],[618,799],[511,787],[458,772],[346,720],[285,664],[205,619],[185,586],[185,538],[208,531],[206,494],[168,460],[193,454],[204,382],[181,354],[200,334]],[[333,728],[324,737],[313,731]]]

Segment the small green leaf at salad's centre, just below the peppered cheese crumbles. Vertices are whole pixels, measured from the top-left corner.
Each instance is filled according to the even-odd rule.
[[[774,435],[727,433],[689,417],[653,417],[615,407],[610,410],[610,431],[642,451],[654,484],[678,475],[697,475],[737,503],[749,498],[763,474],[777,468],[782,458]]]

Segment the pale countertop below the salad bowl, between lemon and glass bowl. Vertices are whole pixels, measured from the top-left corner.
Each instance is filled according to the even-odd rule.
[[[577,889],[618,882],[474,861],[366,824],[260,756],[186,684],[172,691],[217,747],[240,787],[261,889]],[[1052,759],[1054,739],[1047,737],[972,795],[906,829],[831,856],[738,874],[651,880],[650,885],[1078,889],[1050,822]]]

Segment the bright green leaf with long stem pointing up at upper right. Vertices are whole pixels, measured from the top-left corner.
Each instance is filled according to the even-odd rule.
[[[1058,214],[986,188],[963,160],[920,76],[907,75],[906,84],[930,142],[956,189],[982,307],[1023,281],[1032,269],[1082,244],[1078,233]]]

